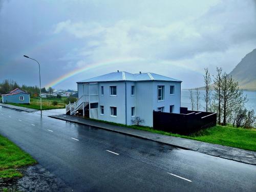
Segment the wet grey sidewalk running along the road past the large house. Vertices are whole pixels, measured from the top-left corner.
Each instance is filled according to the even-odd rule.
[[[97,122],[90,119],[84,119],[81,117],[70,116],[70,115],[52,115],[49,116],[55,119],[66,120],[74,123],[83,125],[95,126],[103,130],[108,130],[124,135],[138,137],[155,141],[162,144],[167,144],[182,148],[184,150],[196,151],[211,156],[221,157],[224,159],[230,159],[242,163],[256,165],[256,152],[242,150],[240,148],[234,148],[229,146],[223,146],[219,144],[205,143],[202,141],[196,141],[191,139],[185,139],[180,137],[160,135],[156,133],[146,132],[142,130],[135,130],[129,127],[117,126],[103,122]]]

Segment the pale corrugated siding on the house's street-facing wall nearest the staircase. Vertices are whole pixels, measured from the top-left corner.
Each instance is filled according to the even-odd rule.
[[[100,105],[104,106],[104,115],[99,115],[100,120],[125,124],[125,82],[100,82],[100,87],[104,87],[104,95],[99,94]],[[116,96],[110,95],[110,86],[116,86]],[[112,117],[110,107],[116,106],[117,117]]]

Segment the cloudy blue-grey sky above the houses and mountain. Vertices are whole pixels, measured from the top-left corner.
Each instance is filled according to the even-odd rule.
[[[256,1],[0,0],[0,81],[76,88],[116,70],[203,86],[256,48]]]

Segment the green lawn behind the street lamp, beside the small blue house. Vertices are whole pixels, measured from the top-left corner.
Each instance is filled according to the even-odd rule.
[[[66,106],[67,98],[42,98],[42,110],[53,110],[53,109],[63,109]],[[57,101],[57,105],[53,105],[52,102]],[[30,98],[30,104],[20,104],[20,103],[8,103],[15,106],[23,106],[25,108],[40,110],[40,98]]]

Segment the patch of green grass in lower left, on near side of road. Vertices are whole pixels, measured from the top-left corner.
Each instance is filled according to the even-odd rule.
[[[22,177],[17,168],[35,163],[29,154],[0,135],[0,178]]]

